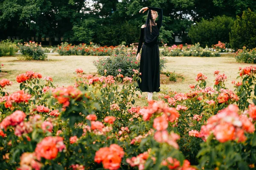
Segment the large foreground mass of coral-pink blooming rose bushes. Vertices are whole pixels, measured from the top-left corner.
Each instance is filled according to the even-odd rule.
[[[207,86],[206,75],[198,73],[198,83],[190,84],[189,92],[165,92],[147,106],[134,105],[140,98],[136,69],[131,78],[87,75],[76,69],[77,80],[68,87],[55,87],[52,78],[28,71],[17,76],[20,90],[12,94],[5,92],[12,82],[3,79],[0,166],[254,168],[256,106],[249,99],[255,70],[239,69],[241,83],[234,82],[234,91],[225,87],[227,76],[218,70],[213,73],[213,87]]]

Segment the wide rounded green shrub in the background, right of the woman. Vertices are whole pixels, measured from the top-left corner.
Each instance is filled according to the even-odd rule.
[[[198,43],[205,46],[212,46],[212,44],[221,42],[229,42],[229,32],[234,24],[232,17],[217,16],[212,20],[202,19],[196,22],[194,26],[189,29],[189,37],[192,43]]]

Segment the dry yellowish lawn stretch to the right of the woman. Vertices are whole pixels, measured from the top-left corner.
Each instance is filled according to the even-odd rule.
[[[180,84],[168,84],[173,91],[188,92],[189,84],[196,84],[195,77],[198,72],[207,75],[207,86],[213,86],[215,77],[213,72],[219,70],[227,75],[226,87],[234,89],[232,80],[236,80],[239,75],[239,67],[250,66],[252,64],[237,63],[233,57],[167,57],[168,62],[164,71],[177,72],[184,76],[185,80]]]

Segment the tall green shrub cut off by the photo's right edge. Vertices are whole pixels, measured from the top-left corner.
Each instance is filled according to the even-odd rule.
[[[250,9],[237,16],[230,32],[230,45],[233,49],[249,49],[256,47],[256,13]]]

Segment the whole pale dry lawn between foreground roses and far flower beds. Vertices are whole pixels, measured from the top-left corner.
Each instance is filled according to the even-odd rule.
[[[184,81],[179,83],[166,84],[161,87],[171,89],[177,92],[188,92],[189,84],[196,84],[195,77],[198,72],[207,75],[208,86],[213,86],[215,77],[213,72],[219,70],[220,73],[227,75],[226,87],[233,89],[232,80],[236,80],[239,75],[239,67],[250,66],[251,64],[237,63],[233,55],[222,55],[221,57],[166,57],[167,65],[164,71],[170,71],[183,75]],[[68,86],[73,85],[76,79],[74,74],[76,68],[82,68],[85,73],[96,73],[96,67],[93,61],[97,60],[95,56],[58,56],[49,54],[49,61],[19,61],[17,57],[2,57],[1,78],[7,78],[13,82],[12,86],[7,87],[9,92],[15,92],[19,89],[19,84],[15,81],[18,74],[32,70],[40,72],[43,77],[51,76],[55,85]],[[146,94],[143,94],[145,96]]]

